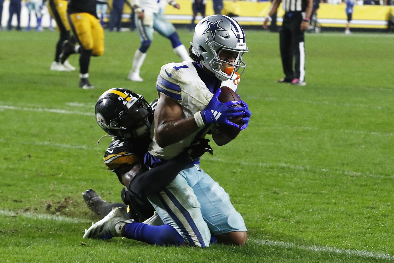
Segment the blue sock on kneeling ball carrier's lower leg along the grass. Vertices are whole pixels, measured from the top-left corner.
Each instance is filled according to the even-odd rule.
[[[183,238],[172,226],[151,226],[144,223],[132,222],[126,224],[123,235],[128,239],[142,241],[158,246],[180,246],[183,244]]]

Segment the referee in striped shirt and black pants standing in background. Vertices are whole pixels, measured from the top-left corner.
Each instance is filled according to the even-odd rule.
[[[280,83],[305,86],[305,45],[304,31],[308,28],[312,14],[313,0],[273,0],[263,27],[266,29],[271,15],[276,13],[282,3],[285,11],[282,29],[279,31],[279,43],[284,78]],[[293,58],[296,57],[293,70]]]

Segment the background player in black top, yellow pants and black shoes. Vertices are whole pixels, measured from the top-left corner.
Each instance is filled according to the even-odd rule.
[[[104,30],[96,14],[97,0],[69,0],[67,7],[68,20],[80,43],[80,84],[83,89],[92,89],[89,83],[89,63],[91,56],[104,53]]]

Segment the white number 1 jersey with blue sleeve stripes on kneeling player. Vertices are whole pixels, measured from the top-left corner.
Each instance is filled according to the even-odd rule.
[[[231,83],[223,82],[222,86],[229,86],[234,91],[237,88],[237,85],[234,85],[232,80]],[[157,78],[156,88],[180,104],[182,107],[182,119],[189,118],[196,112],[204,110],[213,97],[211,91],[199,77],[193,62],[189,61],[169,63],[162,66]],[[154,125],[152,125],[151,129],[152,143],[149,146],[149,153],[166,160],[170,160],[180,154],[193,140],[204,137],[209,131],[209,127],[203,127],[188,138],[162,148],[156,143],[153,129]]]

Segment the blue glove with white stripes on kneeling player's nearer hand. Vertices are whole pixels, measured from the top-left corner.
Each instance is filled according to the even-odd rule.
[[[225,123],[227,125],[231,125],[238,128],[238,125],[232,123],[231,121],[229,121],[229,119],[242,115],[248,117],[246,113],[247,109],[244,106],[232,107],[237,104],[242,104],[241,101],[230,101],[226,103],[221,103],[218,99],[220,93],[221,90],[218,89],[214,94],[214,96],[212,97],[212,99],[209,101],[206,108],[201,111],[204,118],[204,122],[206,124]]]

